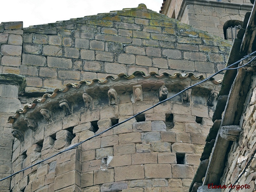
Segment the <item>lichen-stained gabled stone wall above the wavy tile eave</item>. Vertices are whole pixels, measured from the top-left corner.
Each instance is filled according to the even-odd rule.
[[[26,76],[27,93],[138,70],[209,76],[232,44],[143,6],[29,28],[2,23],[0,37],[1,72]]]

